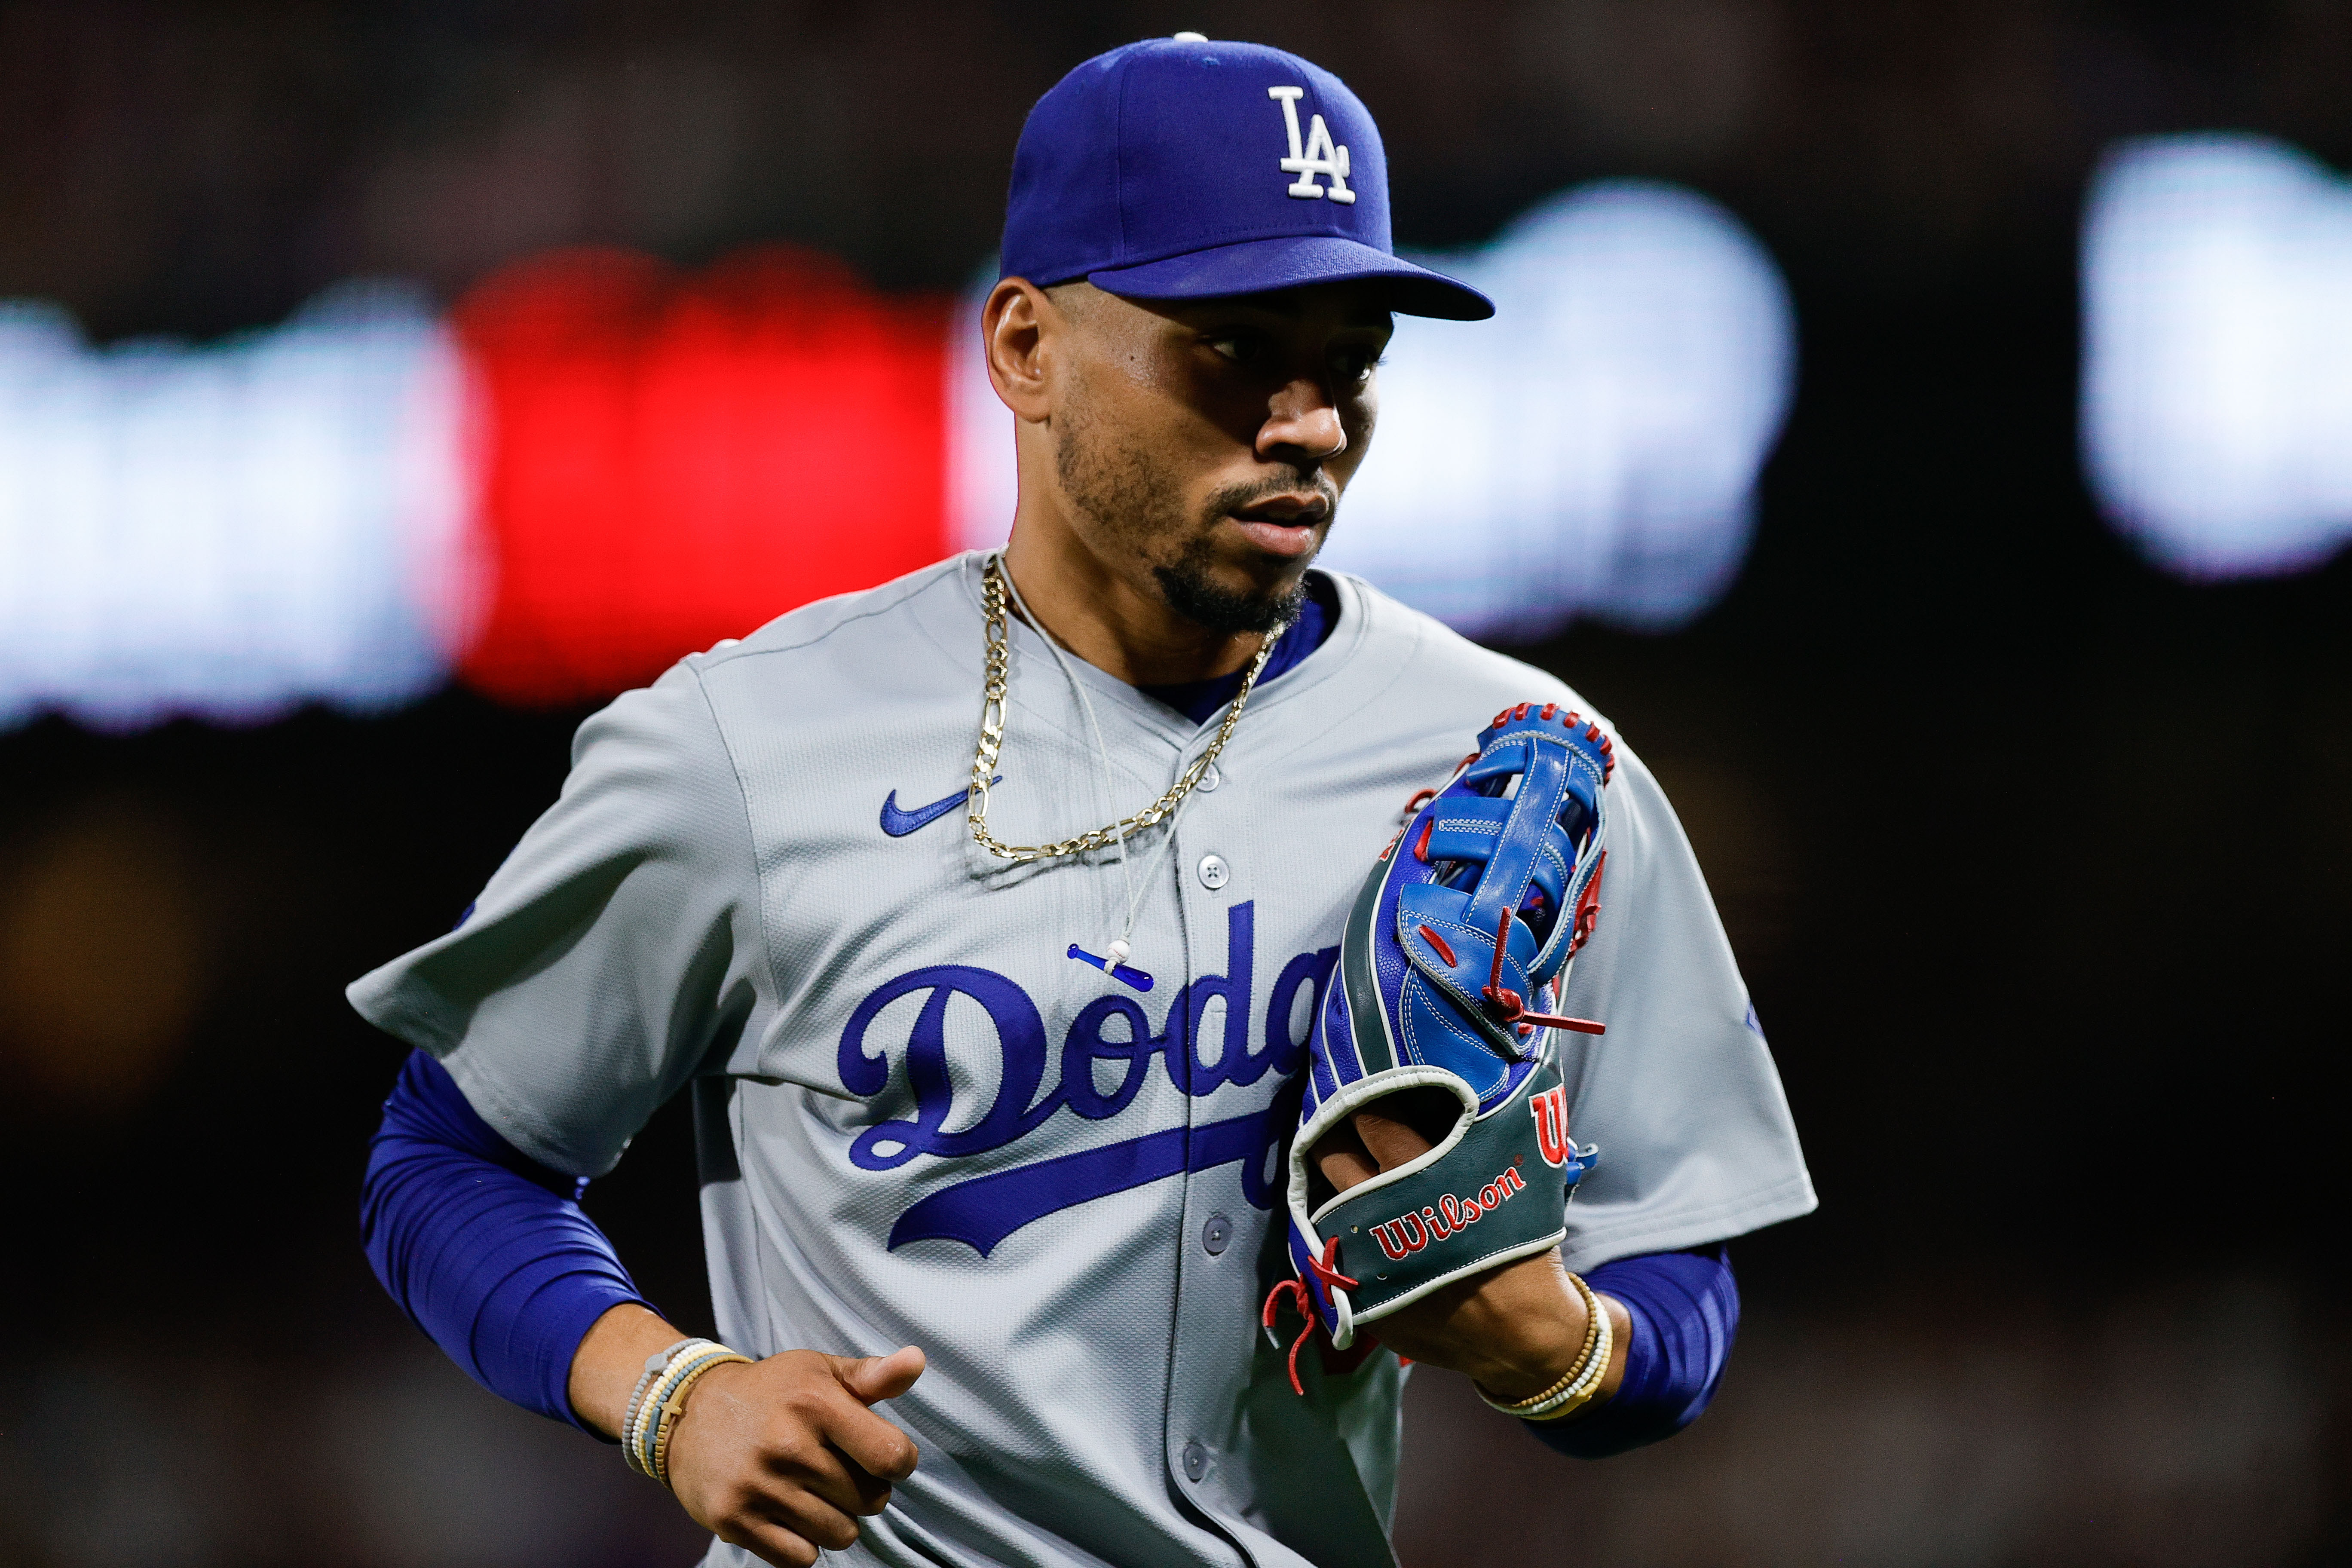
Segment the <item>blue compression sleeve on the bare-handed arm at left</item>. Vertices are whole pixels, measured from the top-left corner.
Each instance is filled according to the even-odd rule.
[[[612,1307],[649,1305],[581,1211],[586,1187],[508,1145],[414,1051],[360,1197],[367,1262],[409,1321],[492,1394],[583,1432],[572,1356]]]

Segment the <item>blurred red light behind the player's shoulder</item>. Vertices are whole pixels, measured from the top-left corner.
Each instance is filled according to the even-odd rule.
[[[786,247],[694,275],[560,252],[475,287],[494,592],[466,682],[609,696],[946,555],[948,315]]]

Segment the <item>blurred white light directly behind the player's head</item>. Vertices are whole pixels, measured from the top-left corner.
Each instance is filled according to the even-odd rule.
[[[1423,261],[1498,313],[1397,317],[1378,437],[1324,559],[1477,637],[1576,614],[1663,628],[1712,604],[1795,383],[1764,247],[1700,195],[1611,181]],[[953,538],[988,548],[1014,512],[1011,416],[976,320],[978,299],[955,343]]]

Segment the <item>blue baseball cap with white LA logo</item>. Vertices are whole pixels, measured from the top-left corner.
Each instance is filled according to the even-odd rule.
[[[1200,33],[1096,54],[1037,99],[1002,277],[1131,299],[1381,280],[1406,315],[1494,315],[1477,289],[1397,259],[1381,132],[1345,82]]]

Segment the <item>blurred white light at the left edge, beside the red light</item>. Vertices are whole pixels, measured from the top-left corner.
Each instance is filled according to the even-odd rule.
[[[480,597],[463,418],[456,346],[388,284],[216,348],[0,303],[0,724],[428,691]]]

